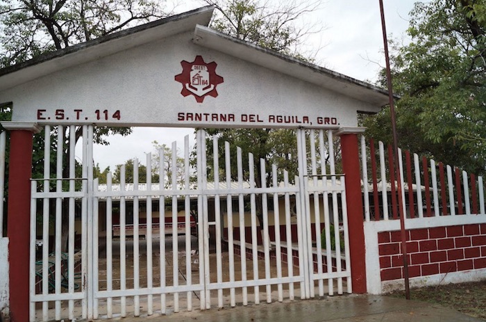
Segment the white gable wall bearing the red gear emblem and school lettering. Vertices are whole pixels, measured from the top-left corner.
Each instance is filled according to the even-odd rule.
[[[12,121],[83,122],[129,126],[199,127],[202,122],[183,122],[178,113],[234,114],[235,122],[204,122],[214,127],[355,127],[356,111],[374,111],[376,106],[346,97],[312,83],[242,61],[192,42],[193,33],[127,49],[96,61],[60,70],[1,92],[4,102],[13,102]],[[224,78],[217,97],[197,103],[181,95],[181,61],[201,55],[217,63]],[[26,95],[28,92],[28,95]],[[56,110],[64,118],[56,120]],[[37,119],[37,111],[44,120]],[[74,110],[82,110],[76,113]],[[108,111],[108,120],[97,120],[95,111]],[[115,111],[120,120],[113,120]],[[242,114],[258,114],[263,122],[242,122]],[[277,124],[269,115],[307,115],[311,124]],[[337,118],[337,124],[317,124],[317,118]],[[68,120],[69,118],[69,120]],[[76,120],[78,119],[78,120]]]

